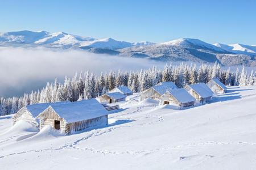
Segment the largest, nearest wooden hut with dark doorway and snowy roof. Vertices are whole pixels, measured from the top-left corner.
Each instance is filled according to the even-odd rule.
[[[40,129],[52,126],[65,134],[86,128],[108,125],[109,112],[96,100],[88,99],[67,104],[49,105],[36,118],[40,119]]]

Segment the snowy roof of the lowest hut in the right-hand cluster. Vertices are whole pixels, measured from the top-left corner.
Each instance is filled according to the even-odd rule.
[[[175,88],[168,90],[166,93],[171,94],[180,103],[189,103],[191,101],[196,101],[196,99],[191,96],[184,88]]]

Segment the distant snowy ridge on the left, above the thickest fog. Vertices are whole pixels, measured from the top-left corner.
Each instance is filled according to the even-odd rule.
[[[151,45],[153,42],[125,42],[111,38],[97,40],[92,37],[81,37],[65,32],[46,32],[46,31],[17,31],[0,33],[0,45],[3,46],[46,46],[55,48],[102,48],[102,49],[121,49],[134,45]]]

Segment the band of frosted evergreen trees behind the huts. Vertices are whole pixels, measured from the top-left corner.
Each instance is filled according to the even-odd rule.
[[[217,63],[212,65],[202,64],[199,69],[195,65],[183,65],[173,67],[171,64],[166,65],[164,69],[152,67],[148,70],[130,71],[123,73],[118,70],[116,74],[110,71],[108,74],[101,73],[95,76],[88,71],[77,73],[72,79],[65,77],[64,83],[47,82],[46,87],[42,90],[32,91],[31,94],[24,94],[22,97],[11,97],[0,100],[0,116],[13,114],[19,111],[24,105],[36,103],[52,103],[57,101],[77,101],[98,97],[118,86],[127,86],[133,92],[141,92],[154,86],[159,82],[172,81],[177,87],[182,88],[186,84],[195,84],[198,82],[209,82],[212,78],[219,79],[228,86],[248,86],[256,85],[255,72],[251,70],[247,74],[245,68],[236,73],[230,73],[230,69],[222,70]]]

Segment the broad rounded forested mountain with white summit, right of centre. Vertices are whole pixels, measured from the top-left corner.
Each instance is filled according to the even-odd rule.
[[[217,61],[222,65],[256,66],[256,60],[251,56],[227,52],[200,40],[190,42],[180,39],[154,45],[131,46],[119,49],[118,52],[120,52],[120,56],[124,57],[148,58],[158,61]]]

